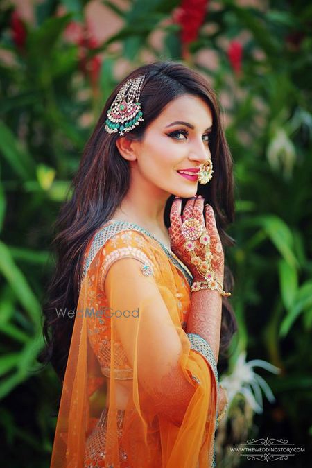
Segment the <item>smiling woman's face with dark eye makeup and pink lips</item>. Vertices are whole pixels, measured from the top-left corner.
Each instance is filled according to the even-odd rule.
[[[175,123],[177,121],[180,123]],[[196,195],[198,176],[184,177],[177,171],[199,168],[211,158],[211,126],[209,105],[201,98],[184,94],[168,103],[162,114],[146,128],[143,141],[132,141],[135,177],[149,182],[148,187],[158,192],[158,196],[168,198],[173,194],[189,198]]]

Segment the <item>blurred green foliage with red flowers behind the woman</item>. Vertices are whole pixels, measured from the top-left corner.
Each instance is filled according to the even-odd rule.
[[[112,88],[133,68],[166,59],[211,80],[234,157],[236,223],[229,234],[237,244],[226,256],[236,279],[239,333],[219,372],[230,377],[241,369],[247,379],[246,354],[280,370],[257,370],[275,397],[263,398],[262,411],[246,393],[234,397],[218,432],[217,466],[258,466],[229,451],[248,437],[305,447],[285,463],[308,466],[311,3],[43,0],[28,2],[31,20],[21,15],[20,3],[1,1],[0,16],[3,466],[48,467],[51,456],[60,382],[51,367],[40,372],[36,361],[40,302],[53,268],[51,225]],[[91,3],[116,19],[116,33],[105,40],[86,14]]]

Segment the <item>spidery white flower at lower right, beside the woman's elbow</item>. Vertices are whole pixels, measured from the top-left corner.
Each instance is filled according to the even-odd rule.
[[[224,376],[220,379],[220,384],[227,390],[227,397],[229,399],[229,406],[232,403],[234,397],[240,393],[248,401],[248,404],[256,413],[263,412],[263,399],[261,390],[263,390],[267,399],[270,403],[275,401],[275,397],[272,394],[272,390],[268,386],[268,383],[254,372],[253,367],[258,366],[263,369],[279,374],[279,367],[275,367],[263,361],[262,359],[252,359],[246,363],[246,352],[243,351],[239,354],[234,370],[232,374]]]

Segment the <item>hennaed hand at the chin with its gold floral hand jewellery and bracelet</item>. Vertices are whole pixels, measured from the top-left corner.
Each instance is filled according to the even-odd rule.
[[[202,214],[204,198],[192,197],[187,201],[181,216],[181,198],[175,198],[171,207],[171,250],[189,268],[195,282],[191,291],[216,289],[223,291],[224,254],[214,209],[205,205],[205,220]]]

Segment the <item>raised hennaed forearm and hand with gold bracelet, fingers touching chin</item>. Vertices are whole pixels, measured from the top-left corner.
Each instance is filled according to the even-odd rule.
[[[218,361],[220,327],[222,317],[224,254],[216,227],[214,209],[205,205],[201,196],[189,199],[181,216],[182,200],[178,197],[171,207],[171,248],[188,266],[193,280],[206,281],[207,289],[191,293],[191,311],[187,322],[187,335],[191,348],[205,357],[214,371],[218,385]],[[220,281],[219,287],[217,281]],[[218,291],[218,289],[220,291]],[[192,286],[193,289],[193,286]]]

